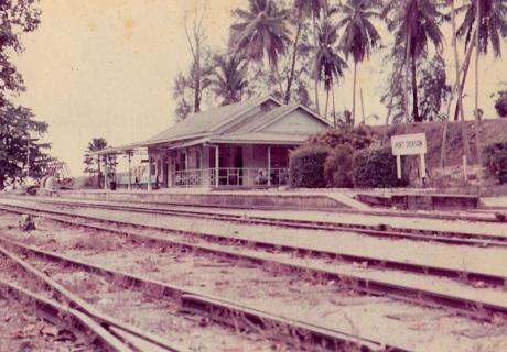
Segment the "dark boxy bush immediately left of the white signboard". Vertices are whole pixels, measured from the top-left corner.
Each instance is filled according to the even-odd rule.
[[[402,187],[408,177],[398,179],[396,156],[390,147],[366,148],[354,155],[353,180],[355,187]]]

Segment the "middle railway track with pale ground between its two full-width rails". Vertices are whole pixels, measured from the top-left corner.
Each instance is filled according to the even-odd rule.
[[[28,209],[9,209],[10,211],[17,213],[26,213]],[[270,266],[278,267],[279,270],[289,270],[291,272],[308,273],[313,277],[321,277],[323,279],[336,280],[339,283],[353,283],[353,289],[363,292],[370,295],[384,295],[388,294],[389,296],[396,297],[398,299],[403,299],[412,302],[425,302],[430,306],[439,305],[442,307],[447,307],[454,311],[467,316],[474,317],[481,320],[488,320],[494,317],[495,314],[507,314],[507,301],[501,294],[496,294],[494,298],[483,297],[479,290],[471,289],[467,294],[460,294],[462,287],[449,286],[447,288],[443,287],[442,283],[440,286],[431,282],[429,285],[414,285],[413,276],[407,276],[404,272],[416,272],[425,275],[433,275],[435,278],[442,275],[459,278],[462,282],[475,283],[477,280],[484,280],[497,287],[503,287],[505,285],[504,276],[492,276],[484,273],[471,273],[471,272],[456,272],[455,270],[445,268],[445,267],[431,267],[417,265],[413,263],[399,263],[399,262],[389,262],[378,258],[371,258],[366,256],[346,256],[343,254],[336,255],[336,253],[319,253],[315,251],[310,251],[302,248],[283,248],[278,246],[273,243],[268,242],[257,242],[256,240],[250,241],[238,241],[238,239],[230,238],[216,238],[215,235],[207,235],[202,233],[183,233],[184,235],[199,237],[204,238],[206,241],[204,243],[190,240],[182,240],[173,238],[170,234],[173,231],[168,230],[166,228],[158,228],[151,226],[140,226],[121,221],[114,220],[104,220],[96,219],[93,217],[82,217],[74,216],[73,219],[69,219],[69,215],[61,211],[34,211],[33,209],[29,211],[35,216],[43,216],[50,220],[54,220],[64,224],[83,227],[87,229],[93,229],[95,231],[106,231],[115,233],[118,235],[128,237],[134,241],[140,242],[150,242],[154,245],[160,246],[176,246],[181,249],[187,249],[191,251],[196,251],[198,253],[211,253],[213,255],[218,255],[227,258],[235,258],[241,261],[248,261],[255,265],[259,266]],[[82,219],[82,221],[77,220]],[[139,230],[158,230],[162,231],[161,235],[148,235],[140,233]],[[245,252],[245,250],[238,250],[231,245],[248,245],[257,250],[257,252]],[[276,253],[269,252],[277,251],[292,251],[296,255],[305,255],[306,257],[323,257],[324,260],[333,258],[336,262],[354,262],[354,263],[367,263],[368,267],[377,267],[379,270],[391,270],[390,276],[378,277],[375,275],[369,275],[368,273],[350,273],[346,270],[337,270],[333,266],[322,267],[319,263],[306,263],[298,262],[296,260],[291,260],[287,257],[279,257]],[[330,256],[330,254],[333,254]],[[406,276],[403,276],[406,275]],[[407,278],[407,283],[403,282],[403,277]],[[416,277],[417,280],[421,277]],[[434,280],[435,278],[432,278]],[[456,292],[453,292],[456,290]]]

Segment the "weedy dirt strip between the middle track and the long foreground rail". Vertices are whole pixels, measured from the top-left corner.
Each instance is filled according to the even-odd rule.
[[[479,323],[445,310],[424,308],[387,297],[344,292],[336,288],[333,283],[315,285],[289,274],[273,276],[248,265],[195,256],[192,253],[173,253],[161,251],[160,248],[134,245],[118,238],[105,238],[104,233],[97,237],[44,220],[37,220],[39,230],[26,235],[13,228],[15,221],[17,217],[1,216],[0,229],[6,235],[41,245],[46,250],[247,306],[262,307],[273,314],[328,329],[403,345],[410,350],[424,346],[424,351],[490,351],[507,346],[507,330],[503,324]],[[80,282],[79,275],[83,274],[62,275],[65,277],[60,279],[67,280],[67,285],[73,286]],[[100,299],[107,297],[103,294],[100,285],[97,286],[97,292],[91,293]],[[112,302],[117,301],[114,300],[115,297],[122,297],[123,294],[130,295],[112,295]],[[138,302],[141,307],[144,305],[143,300],[136,296],[126,296],[122,301]],[[155,312],[161,310],[161,307],[154,307],[149,310],[152,312],[150,316],[155,316]],[[184,330],[186,328],[182,329]],[[397,333],[393,334],[392,331]]]

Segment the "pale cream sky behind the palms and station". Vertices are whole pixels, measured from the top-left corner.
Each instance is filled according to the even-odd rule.
[[[231,11],[245,7],[246,0],[199,3],[201,9],[206,3],[209,45],[225,47]],[[184,18],[195,13],[194,1],[41,0],[40,8],[40,28],[23,35],[25,51],[13,57],[26,86],[17,102],[48,122],[45,140],[52,143],[51,153],[67,162],[74,176],[82,174],[83,154],[93,138],[120,145],[145,140],[174,123],[172,84],[191,62]],[[381,35],[389,41],[385,30]],[[505,43],[503,50],[507,55]],[[451,64],[450,55],[447,50]],[[379,54],[360,65],[357,92],[363,88],[365,114],[384,120],[381,70]],[[481,79],[481,107],[495,117],[489,96],[507,80],[506,59],[485,57]],[[472,111],[473,79],[465,94],[465,111]],[[350,109],[352,70],[336,86],[335,97],[337,110]],[[360,109],[359,100],[356,103]]]

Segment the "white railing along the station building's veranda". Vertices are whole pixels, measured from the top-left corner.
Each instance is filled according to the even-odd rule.
[[[270,174],[270,177],[268,177]],[[218,186],[283,186],[287,185],[289,173],[287,168],[218,168]],[[185,169],[174,173],[176,187],[216,186],[216,169]]]

